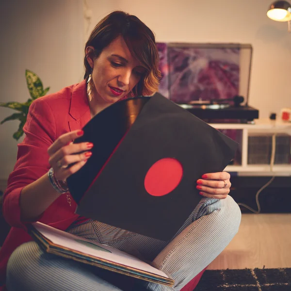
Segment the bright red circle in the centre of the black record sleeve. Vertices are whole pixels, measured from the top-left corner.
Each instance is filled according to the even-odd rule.
[[[183,176],[181,163],[173,158],[164,158],[155,162],[147,171],[146,192],[153,196],[163,196],[172,192]]]

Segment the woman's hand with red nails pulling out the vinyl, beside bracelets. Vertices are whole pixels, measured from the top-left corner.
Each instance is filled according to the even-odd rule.
[[[74,130],[62,134],[51,146],[49,146],[49,164],[53,168],[57,180],[65,181],[66,178],[76,173],[91,157],[89,150],[92,143],[73,144],[73,141],[82,136],[82,130]],[[77,154],[79,153],[79,154]],[[69,164],[73,164],[68,167]]]

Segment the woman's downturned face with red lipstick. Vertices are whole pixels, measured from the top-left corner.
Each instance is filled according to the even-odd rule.
[[[128,95],[145,73],[145,68],[133,58],[121,36],[103,49],[94,61],[88,58],[88,62],[93,68],[95,101],[102,104],[110,105]]]

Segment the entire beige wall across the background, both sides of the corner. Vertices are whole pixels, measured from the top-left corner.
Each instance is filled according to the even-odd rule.
[[[26,68],[51,86],[49,92],[80,81],[86,37],[102,17],[121,9],[144,21],[157,41],[252,44],[249,104],[260,117],[291,107],[291,33],[266,16],[272,0],[86,0],[90,23],[82,20],[82,0],[0,2],[0,101],[26,101]],[[1,120],[11,113],[0,108]],[[17,127],[11,121],[0,126],[0,179],[15,163]]]

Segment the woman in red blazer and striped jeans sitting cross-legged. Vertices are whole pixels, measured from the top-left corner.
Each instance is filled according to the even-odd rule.
[[[97,268],[44,253],[26,232],[28,223],[40,221],[154,261],[176,282],[170,288],[136,280],[134,290],[180,290],[238,231],[241,212],[227,196],[230,175],[209,173],[197,181],[204,197],[169,242],[75,214],[65,179],[90,159],[94,145],[71,142],[83,134],[81,128],[90,118],[114,102],[153,94],[160,78],[153,33],[123,12],[113,12],[97,24],[85,46],[84,64],[84,81],[41,97],[30,107],[26,136],[18,145],[4,193],[3,213],[13,227],[0,252],[0,282],[6,281],[9,291],[121,290],[112,282],[115,273],[107,278]]]

